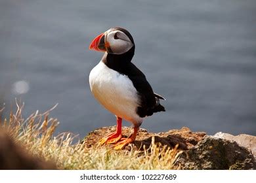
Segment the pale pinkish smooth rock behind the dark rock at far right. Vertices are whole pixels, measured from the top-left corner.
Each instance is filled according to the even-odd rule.
[[[240,135],[231,135],[229,133],[218,132],[214,135],[221,139],[226,139],[228,141],[236,141],[240,146],[248,148],[253,153],[254,158],[256,159],[256,137],[253,135],[240,134]]]

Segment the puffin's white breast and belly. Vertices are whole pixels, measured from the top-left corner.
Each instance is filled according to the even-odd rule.
[[[100,61],[91,71],[89,83],[91,92],[106,109],[135,125],[142,123],[142,118],[136,113],[139,95],[128,76]]]

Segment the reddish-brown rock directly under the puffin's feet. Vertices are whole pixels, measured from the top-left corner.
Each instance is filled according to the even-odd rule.
[[[101,127],[89,133],[83,143],[87,147],[98,146],[98,141],[104,136],[116,131],[116,126]],[[122,134],[128,137],[133,132],[131,127],[123,127]],[[173,148],[176,144],[179,144],[180,150],[188,150],[195,146],[206,135],[204,132],[192,132],[188,127],[182,127],[181,129],[172,129],[167,132],[161,133],[149,133],[146,129],[140,129],[136,141],[133,144],[135,150],[143,150],[143,146],[148,148],[151,144],[152,137],[155,137],[155,142],[160,143],[162,146],[166,145]],[[111,145],[110,145],[111,146]],[[126,146],[126,150],[130,150],[131,146]]]

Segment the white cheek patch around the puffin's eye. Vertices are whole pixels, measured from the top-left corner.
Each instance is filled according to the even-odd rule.
[[[118,32],[118,39],[114,39],[114,35]],[[112,31],[108,33],[108,36],[106,37],[106,41],[110,44],[110,48],[113,52],[113,54],[124,54],[125,52],[128,52],[132,47],[133,43],[125,35],[125,33],[121,31]]]

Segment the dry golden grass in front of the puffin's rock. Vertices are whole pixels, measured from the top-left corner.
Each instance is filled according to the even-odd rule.
[[[144,152],[133,149],[129,152],[116,151],[106,146],[86,148],[79,141],[74,144],[73,141],[78,138],[72,133],[54,137],[58,121],[49,118],[49,112],[54,107],[43,114],[36,111],[24,120],[24,105],[16,106],[16,112],[11,112],[8,119],[0,121],[0,127],[35,156],[53,160],[58,169],[179,169],[174,165],[181,154],[177,148],[160,148],[154,140]]]

